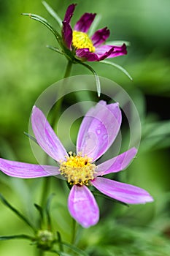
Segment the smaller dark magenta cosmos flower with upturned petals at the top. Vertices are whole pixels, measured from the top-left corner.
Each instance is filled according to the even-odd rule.
[[[66,10],[63,19],[63,42],[66,48],[75,53],[77,59],[82,61],[102,61],[106,58],[114,58],[127,54],[126,46],[104,45],[109,37],[109,29],[99,29],[92,37],[88,37],[88,30],[96,16],[96,13],[85,12],[77,21],[74,29],[70,26],[70,21],[74,13],[76,4],[71,4]]]

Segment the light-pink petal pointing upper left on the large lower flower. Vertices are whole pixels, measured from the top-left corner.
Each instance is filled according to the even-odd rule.
[[[32,129],[39,146],[53,159],[60,162],[68,154],[61,141],[55,135],[44,114],[34,106],[31,116]]]

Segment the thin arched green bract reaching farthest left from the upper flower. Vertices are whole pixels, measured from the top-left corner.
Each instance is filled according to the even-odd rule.
[[[55,35],[55,38],[58,40],[58,43],[61,45],[61,35],[58,34],[58,31],[53,29],[53,26],[51,26],[51,24],[48,23],[48,21],[45,20],[45,18],[42,18],[41,16],[33,14],[33,13],[22,13],[22,15],[29,16],[31,19],[37,20],[40,23],[42,23],[43,25],[45,25],[47,27],[47,29],[50,29],[50,31]]]

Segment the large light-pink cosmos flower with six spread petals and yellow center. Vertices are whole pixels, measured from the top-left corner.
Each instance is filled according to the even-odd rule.
[[[136,155],[136,148],[99,165],[96,163],[112,145],[120,130],[121,111],[117,103],[107,105],[100,101],[88,110],[78,132],[77,154],[66,152],[44,114],[36,106],[32,111],[31,123],[37,143],[58,162],[58,167],[0,159],[0,170],[18,178],[65,177],[72,185],[68,200],[69,212],[82,227],[96,225],[99,219],[98,205],[90,192],[90,186],[124,203],[152,202],[152,197],[144,189],[102,177],[125,169]]]

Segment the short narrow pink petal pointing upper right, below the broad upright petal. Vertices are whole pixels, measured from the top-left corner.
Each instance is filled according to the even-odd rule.
[[[103,176],[108,173],[117,173],[120,170],[125,169],[125,167],[127,167],[131,160],[134,158],[136,153],[137,149],[131,148],[128,151],[125,151],[123,154],[103,162],[101,165],[97,166],[96,176]]]

